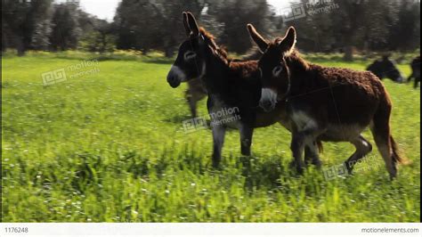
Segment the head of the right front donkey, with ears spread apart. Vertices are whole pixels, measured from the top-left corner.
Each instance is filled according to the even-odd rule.
[[[264,52],[258,63],[263,86],[260,106],[267,111],[274,110],[277,102],[290,91],[290,72],[286,58],[295,49],[296,30],[288,29],[285,37],[279,37],[269,43],[256,29],[248,24],[249,34],[256,45]]]

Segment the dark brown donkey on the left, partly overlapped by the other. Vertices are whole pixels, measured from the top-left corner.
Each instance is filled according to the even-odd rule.
[[[214,37],[205,29],[199,29],[191,12],[183,12],[183,23],[188,38],[179,48],[167,82],[172,87],[180,86],[190,78],[202,78],[207,88],[207,109],[210,113],[213,130],[213,165],[219,166],[224,135],[227,127],[240,131],[241,153],[250,155],[252,135],[256,127],[268,127],[284,123],[282,103],[272,112],[264,112],[258,106],[261,98],[261,81],[257,61],[232,61],[227,53],[215,44]],[[223,118],[222,111],[235,111],[231,118]],[[235,117],[235,121],[233,121]],[[221,123],[222,120],[231,122]],[[318,146],[309,146],[309,157],[318,164]]]

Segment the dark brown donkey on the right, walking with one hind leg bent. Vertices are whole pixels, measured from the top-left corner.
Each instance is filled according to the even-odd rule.
[[[403,159],[391,135],[392,102],[381,80],[371,72],[326,68],[304,61],[295,50],[294,28],[272,43],[252,25],[248,29],[264,52],[258,63],[263,86],[260,104],[272,110],[277,103],[287,102],[296,168],[301,171],[304,166],[304,145],[319,138],[353,143],[356,151],[345,162],[352,172],[353,166],[372,150],[361,135],[370,126],[388,173],[394,178],[396,165]]]

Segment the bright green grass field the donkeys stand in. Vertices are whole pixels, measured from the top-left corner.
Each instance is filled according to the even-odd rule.
[[[252,158],[230,132],[213,170],[211,132],[184,132],[185,86],[166,84],[165,60],[75,69],[77,57],[34,53],[2,62],[4,222],[419,222],[420,90],[410,85],[385,81],[394,137],[413,163],[390,182],[375,149],[361,171],[326,180],[316,168],[288,168],[290,135],[279,125],[256,130]],[[42,73],[61,68],[67,80],[43,86]],[[199,109],[207,114],[205,101]],[[325,143],[323,167],[352,153]]]

